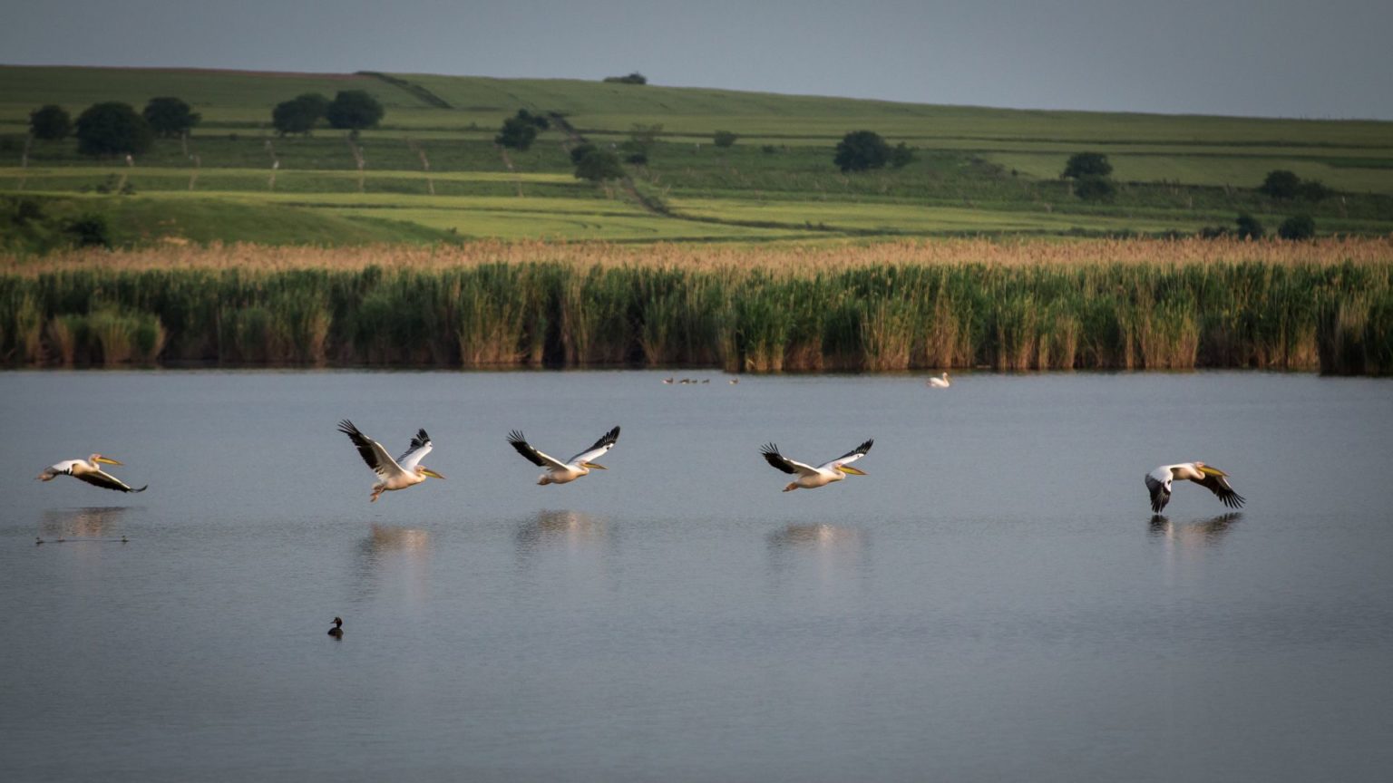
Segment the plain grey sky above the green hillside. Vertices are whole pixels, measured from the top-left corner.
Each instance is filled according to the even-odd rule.
[[[1389,0],[0,0],[7,64],[644,72],[1021,109],[1393,120]]]

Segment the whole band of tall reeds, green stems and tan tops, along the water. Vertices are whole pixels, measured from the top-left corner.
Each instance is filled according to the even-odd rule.
[[[4,366],[1393,373],[1393,238],[0,256]]]

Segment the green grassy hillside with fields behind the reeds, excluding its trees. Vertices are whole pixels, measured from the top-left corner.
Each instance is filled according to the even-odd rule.
[[[338,131],[279,138],[270,128],[276,103],[340,89],[368,91],[386,107],[359,141],[362,173]],[[187,153],[164,139],[125,166],[81,157],[72,139],[35,142],[21,167],[28,114],[45,103],[75,117],[102,100],[139,109],[167,95],[203,116]],[[531,150],[503,155],[493,137],[518,109],[559,114],[574,134],[553,128]],[[635,124],[662,130],[648,163],[627,167],[630,183],[573,177],[577,135],[621,144]],[[833,148],[862,128],[907,144],[917,159],[841,174]],[[716,148],[716,131],[738,134],[736,146]],[[1114,166],[1109,202],[1084,202],[1059,178],[1085,150]],[[1273,169],[1337,194],[1269,199],[1254,188]],[[1192,234],[1230,226],[1238,212],[1269,230],[1308,213],[1325,234],[1393,231],[1393,123],[1018,111],[574,79],[0,67],[0,235],[10,235],[0,248],[11,249],[57,241],[32,223],[52,228],[92,213],[123,244],[361,244]]]

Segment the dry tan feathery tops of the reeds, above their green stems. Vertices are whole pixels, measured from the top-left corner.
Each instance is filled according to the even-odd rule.
[[[64,269],[121,270],[247,270],[305,269],[440,270],[495,263],[549,262],[563,266],[645,266],[687,272],[727,268],[765,269],[780,274],[812,276],[865,266],[1329,266],[1351,262],[1386,263],[1393,259],[1393,237],[1337,237],[1314,242],[1241,240],[992,240],[949,238],[907,241],[825,241],[747,244],[644,244],[559,241],[472,241],[460,245],[362,245],[322,248],[259,244],[160,244],[124,251],[71,249],[47,255],[0,254],[0,273],[42,274]]]

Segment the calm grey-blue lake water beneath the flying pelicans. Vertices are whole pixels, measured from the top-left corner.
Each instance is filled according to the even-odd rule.
[[[0,779],[1389,779],[1393,382],[664,375],[0,373]]]

